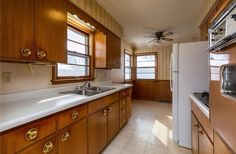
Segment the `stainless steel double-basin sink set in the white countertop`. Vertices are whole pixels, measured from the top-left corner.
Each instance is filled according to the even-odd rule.
[[[71,91],[63,91],[63,92],[60,92],[60,94],[78,94],[78,95],[84,95],[84,96],[93,96],[93,95],[101,94],[101,93],[104,93],[113,89],[115,88],[95,86],[95,87],[88,87],[86,89],[74,89]]]

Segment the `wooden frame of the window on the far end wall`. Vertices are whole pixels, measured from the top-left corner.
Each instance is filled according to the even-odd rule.
[[[137,67],[137,57],[138,56],[155,56],[155,78],[154,79],[138,79],[137,78],[137,69],[138,68],[153,68],[153,67]],[[148,53],[136,53],[134,56],[134,65],[135,65],[135,80],[145,80],[145,81],[157,81],[158,80],[158,55],[157,52],[148,52]]]

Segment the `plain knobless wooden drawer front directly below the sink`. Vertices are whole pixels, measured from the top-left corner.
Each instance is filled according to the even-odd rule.
[[[88,104],[88,113],[92,114],[119,100],[119,93],[105,96]]]

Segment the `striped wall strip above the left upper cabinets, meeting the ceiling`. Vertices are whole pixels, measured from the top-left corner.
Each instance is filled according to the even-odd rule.
[[[89,14],[92,18],[97,20],[100,24],[104,25],[110,31],[123,37],[122,26],[102,8],[96,0],[70,0],[76,4],[80,9]]]

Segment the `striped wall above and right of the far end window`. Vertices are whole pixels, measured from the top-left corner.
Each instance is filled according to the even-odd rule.
[[[134,53],[153,53],[158,55],[158,80],[170,80],[170,56],[172,45],[161,47],[136,48]]]

